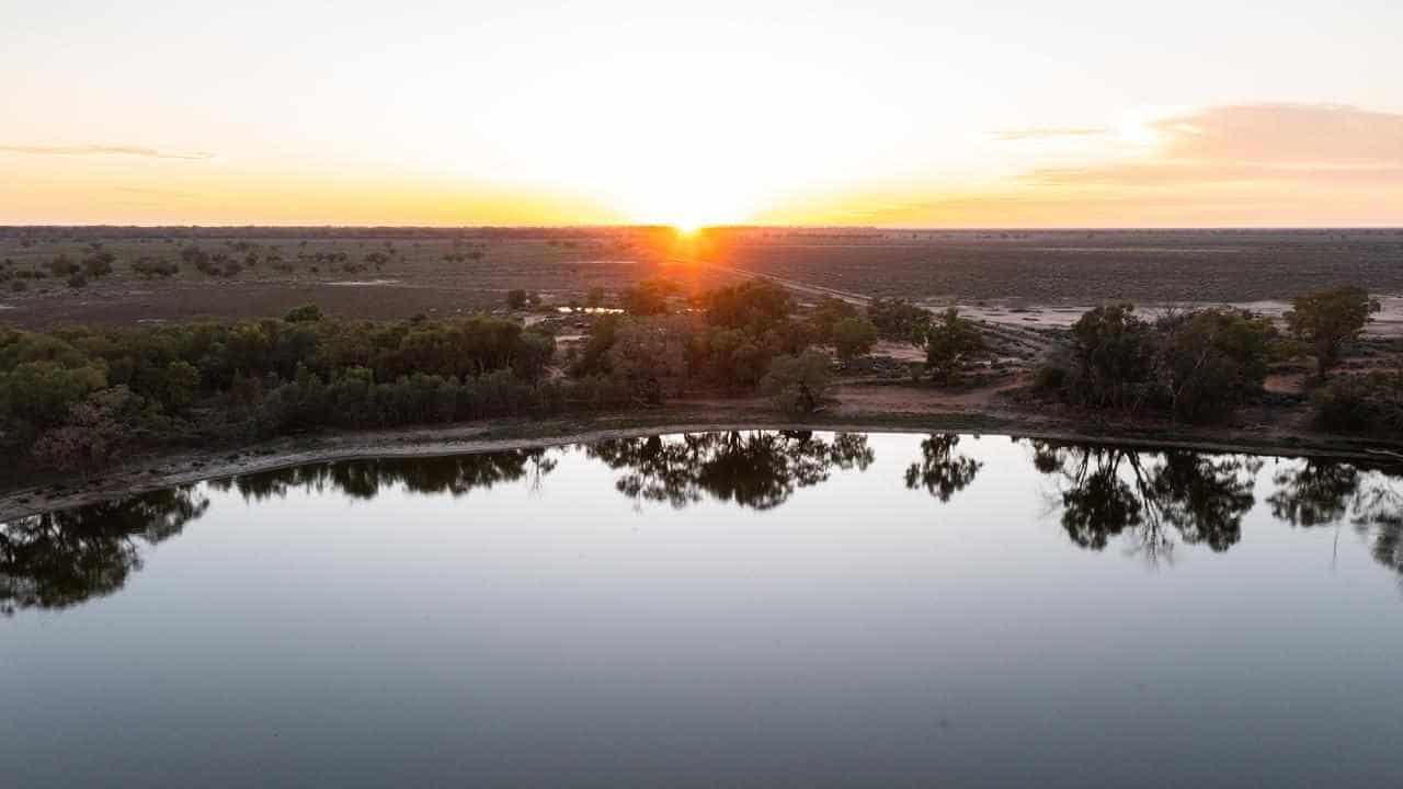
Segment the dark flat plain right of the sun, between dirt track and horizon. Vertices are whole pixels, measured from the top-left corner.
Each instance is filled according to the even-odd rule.
[[[1403,229],[755,230],[706,254],[838,291],[1010,307],[1282,300],[1338,284],[1403,293]]]

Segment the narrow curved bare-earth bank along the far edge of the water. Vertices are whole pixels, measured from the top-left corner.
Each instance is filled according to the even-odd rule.
[[[641,413],[551,420],[492,420],[446,428],[318,432],[241,446],[147,453],[86,477],[42,479],[0,491],[0,522],[178,484],[306,463],[497,452],[659,432],[716,430],[996,434],[1142,448],[1193,448],[1212,452],[1310,455],[1369,463],[1403,463],[1403,442],[1364,441],[1358,437],[1316,431],[1264,430],[1263,423],[1256,427],[1226,428],[1146,420],[1090,423],[1086,418],[1069,418],[1065,414],[1027,406],[968,409],[960,404],[958,399],[943,399],[936,403],[911,400],[909,403],[925,407],[904,409],[887,400],[850,396],[832,410],[805,418],[780,414],[759,399],[697,400]]]

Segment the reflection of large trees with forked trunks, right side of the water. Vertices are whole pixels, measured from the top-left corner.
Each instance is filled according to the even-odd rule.
[[[1172,559],[1176,542],[1226,550],[1242,538],[1261,460],[1187,449],[1141,452],[1033,441],[1033,465],[1058,482],[1062,528],[1101,550],[1127,536],[1148,560]]]

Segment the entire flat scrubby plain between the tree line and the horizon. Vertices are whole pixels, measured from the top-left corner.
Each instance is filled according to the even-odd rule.
[[[112,254],[111,274],[72,288],[51,272],[53,258],[80,263],[94,243]],[[181,263],[188,246],[241,270],[202,272]],[[379,265],[368,261],[382,254]],[[180,271],[142,277],[132,271],[140,258]],[[678,260],[730,270],[668,263]],[[694,289],[763,274],[1065,324],[1078,307],[1106,300],[1277,302],[1338,284],[1403,293],[1403,230],[751,229],[675,239],[665,229],[8,227],[0,229],[0,323],[21,327],[281,316],[307,302],[356,317],[450,316],[497,309],[513,288],[565,305],[659,274]],[[1392,310],[1381,317],[1390,324]]]

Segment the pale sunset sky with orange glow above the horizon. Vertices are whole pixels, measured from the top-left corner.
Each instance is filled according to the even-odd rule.
[[[1403,225],[1397,0],[0,20],[0,223]]]

